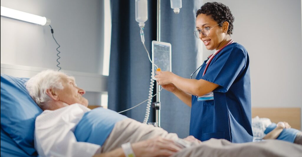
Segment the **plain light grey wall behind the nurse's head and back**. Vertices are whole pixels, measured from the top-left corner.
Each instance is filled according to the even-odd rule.
[[[301,0],[216,2],[232,11],[232,38],[249,53],[252,107],[302,108]]]

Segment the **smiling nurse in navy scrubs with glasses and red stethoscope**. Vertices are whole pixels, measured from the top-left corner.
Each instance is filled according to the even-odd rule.
[[[205,3],[196,13],[196,31],[214,50],[196,79],[168,71],[156,72],[159,85],[191,106],[190,135],[234,143],[252,142],[249,55],[231,38],[234,17],[222,3]]]

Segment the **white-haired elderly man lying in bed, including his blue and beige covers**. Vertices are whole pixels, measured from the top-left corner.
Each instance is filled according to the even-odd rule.
[[[110,109],[90,110],[75,79],[47,70],[28,80],[29,94],[43,109],[35,121],[40,156],[300,156],[302,147],[281,140],[231,143],[224,139],[180,139]],[[131,144],[130,144],[131,143]],[[190,147],[190,148],[188,148]]]

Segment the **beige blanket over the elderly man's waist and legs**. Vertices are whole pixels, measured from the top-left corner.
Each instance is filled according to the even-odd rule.
[[[109,152],[119,148],[123,143],[134,143],[153,137],[162,136],[178,140],[174,133],[168,133],[162,128],[142,124],[133,119],[117,122],[102,146],[101,152]],[[266,140],[249,143],[230,143],[223,139],[210,139],[201,144],[192,143],[192,147],[183,149],[173,157],[195,156],[302,156],[302,146],[281,140]]]

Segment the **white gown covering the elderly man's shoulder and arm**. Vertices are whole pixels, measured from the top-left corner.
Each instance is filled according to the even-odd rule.
[[[40,156],[83,157],[100,153],[101,146],[78,142],[73,133],[76,125],[89,109],[80,104],[54,111],[45,110],[35,122],[35,148]]]

